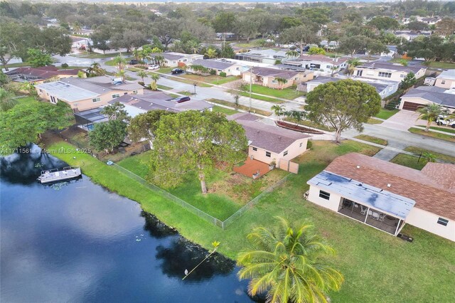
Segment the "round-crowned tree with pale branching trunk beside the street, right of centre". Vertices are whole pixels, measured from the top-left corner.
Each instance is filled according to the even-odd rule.
[[[339,143],[343,130],[353,127],[363,131],[363,123],[378,114],[380,107],[381,97],[375,87],[347,79],[319,85],[309,92],[305,110],[311,121],[330,124]]]

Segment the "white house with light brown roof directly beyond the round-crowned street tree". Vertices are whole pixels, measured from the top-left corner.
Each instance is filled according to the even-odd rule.
[[[326,73],[338,73],[348,66],[348,58],[330,58],[326,55],[301,55],[299,58],[287,60],[283,65],[319,70]]]

